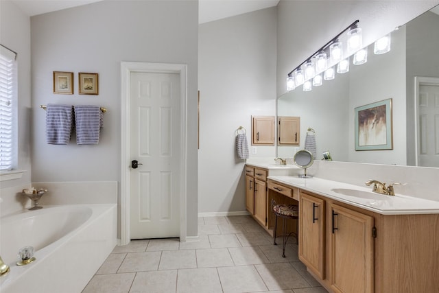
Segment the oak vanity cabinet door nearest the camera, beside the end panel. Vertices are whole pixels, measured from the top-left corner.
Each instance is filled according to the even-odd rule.
[[[331,204],[331,288],[373,292],[373,218]]]

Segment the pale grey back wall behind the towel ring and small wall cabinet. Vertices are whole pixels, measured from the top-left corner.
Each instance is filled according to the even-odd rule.
[[[199,212],[245,211],[244,160],[235,130],[251,116],[276,115],[276,8],[200,25]],[[274,147],[257,147],[271,156]]]

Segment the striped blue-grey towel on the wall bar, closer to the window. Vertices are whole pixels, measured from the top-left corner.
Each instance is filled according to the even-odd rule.
[[[51,145],[67,145],[70,141],[73,125],[72,106],[48,104],[46,111],[47,143]]]

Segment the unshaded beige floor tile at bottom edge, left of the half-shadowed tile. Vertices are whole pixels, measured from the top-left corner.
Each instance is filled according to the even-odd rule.
[[[224,293],[267,291],[254,266],[217,268]]]

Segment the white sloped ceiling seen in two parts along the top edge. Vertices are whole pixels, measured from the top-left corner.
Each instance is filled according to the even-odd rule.
[[[12,0],[25,14],[34,16],[108,0]],[[144,0],[149,1],[149,0]],[[167,0],[162,0],[167,1]],[[198,23],[207,23],[226,17],[276,6],[279,0],[199,0]]]

